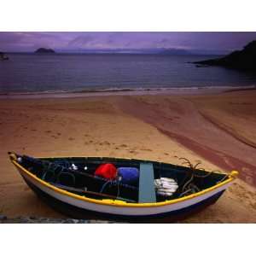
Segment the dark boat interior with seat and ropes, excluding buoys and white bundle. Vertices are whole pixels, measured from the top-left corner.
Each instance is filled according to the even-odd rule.
[[[210,188],[228,178],[226,174],[207,172],[192,166],[185,159],[183,164],[190,164],[189,167],[156,161],[104,157],[40,159],[17,155],[16,159],[28,172],[32,172],[57,188],[93,199],[113,199],[131,203],[169,201]],[[104,163],[111,163],[116,168],[137,168],[139,178],[136,182],[129,184],[119,178],[108,180],[97,177],[96,168]],[[76,167],[75,170],[72,166]],[[154,181],[160,178],[169,178],[173,183],[177,183],[177,189],[172,195],[156,193]]]

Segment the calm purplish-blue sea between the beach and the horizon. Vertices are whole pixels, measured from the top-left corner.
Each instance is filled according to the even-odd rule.
[[[0,61],[0,94],[94,90],[163,90],[252,86],[256,74],[195,67],[210,55],[9,54]]]

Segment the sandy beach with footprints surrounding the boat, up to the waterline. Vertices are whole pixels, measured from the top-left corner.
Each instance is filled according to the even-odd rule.
[[[256,90],[197,95],[0,100],[0,214],[61,218],[26,186],[8,151],[97,155],[181,164],[240,177],[183,223],[256,222]]]

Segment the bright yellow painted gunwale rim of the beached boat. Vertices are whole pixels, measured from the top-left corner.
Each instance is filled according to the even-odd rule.
[[[38,157],[39,159],[54,159],[54,158],[61,158],[61,157]],[[72,157],[65,157],[65,158],[72,158]],[[81,156],[81,158],[92,158],[92,157],[83,157]],[[104,157],[93,157],[93,158],[99,158],[99,159],[103,159]],[[111,159],[111,157],[106,157],[108,159]],[[116,159],[116,160],[120,160],[120,159],[123,159],[123,160],[135,160],[135,159],[125,159],[125,158],[112,158],[112,159]],[[139,160],[139,159],[137,159]],[[149,161],[149,160],[144,160],[144,161]],[[27,171],[26,168],[24,168],[23,166],[20,166],[20,164],[14,160],[14,159],[11,159],[11,162],[20,169],[20,171],[22,172],[25,172],[26,175],[28,175],[29,177],[32,177],[34,180],[36,180],[38,183],[41,183],[42,185],[46,186],[47,188],[49,189],[52,189],[54,190],[55,192],[61,194],[61,195],[66,195],[66,196],[71,196],[73,197],[74,199],[77,199],[77,200],[80,200],[80,201],[86,201],[86,202],[90,202],[90,203],[96,203],[96,204],[100,204],[100,205],[107,205],[107,206],[112,206],[112,207],[164,207],[164,206],[167,206],[167,205],[172,205],[172,204],[175,204],[175,203],[179,203],[179,202],[183,202],[183,201],[189,201],[190,199],[193,199],[195,197],[199,197],[201,195],[206,195],[208,192],[211,192],[212,190],[214,189],[218,189],[222,186],[224,186],[225,184],[227,183],[231,183],[232,181],[234,181],[234,179],[236,178],[236,174],[232,174],[232,172],[230,172],[230,174],[227,174],[229,176],[228,179],[224,180],[223,182],[221,183],[218,183],[210,188],[207,188],[207,189],[203,189],[195,194],[192,194],[192,195],[186,195],[186,196],[183,196],[181,198],[176,198],[176,199],[172,199],[172,200],[168,200],[168,201],[160,201],[160,202],[149,202],[149,203],[131,203],[131,202],[125,202],[125,201],[120,201],[120,200],[112,200],[112,199],[102,199],[102,200],[97,200],[97,199],[92,199],[90,197],[87,197],[85,195],[76,195],[72,192],[68,192],[67,190],[65,189],[59,189],[59,188],[56,188],[55,186],[51,185],[50,183],[47,183],[45,182],[44,180],[42,180],[41,178],[37,177],[36,175],[32,174],[31,172]],[[151,161],[151,162],[156,162],[156,161]],[[160,162],[158,162],[160,163]],[[164,164],[164,163],[163,163]],[[168,163],[165,163],[168,165]],[[170,164],[172,165],[172,164]],[[216,172],[216,173],[221,173],[221,174],[224,174],[222,172]]]

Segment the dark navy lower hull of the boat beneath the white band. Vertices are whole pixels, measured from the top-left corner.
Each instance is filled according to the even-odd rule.
[[[112,219],[112,220],[126,220],[132,223],[151,223],[154,219],[160,219],[164,222],[173,222],[175,220],[183,219],[188,217],[191,214],[195,214],[195,212],[200,212],[205,207],[213,204],[218,198],[224,193],[224,190],[218,192],[215,195],[207,198],[204,201],[198,202],[190,207],[185,207],[183,209],[179,209],[172,212],[164,212],[154,215],[146,215],[146,216],[131,216],[131,215],[117,215],[110,214],[104,212],[93,212],[90,210],[85,210],[80,207],[74,207],[66,202],[55,199],[55,197],[45,193],[42,189],[39,189],[37,186],[29,182],[25,177],[23,177],[27,185],[42,199],[45,201],[50,207],[53,207],[58,212],[61,212],[67,216],[73,218],[100,218],[100,219]]]

